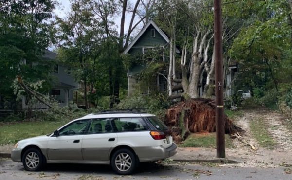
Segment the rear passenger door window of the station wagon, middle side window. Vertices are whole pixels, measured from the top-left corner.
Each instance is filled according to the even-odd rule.
[[[113,132],[111,119],[93,119],[89,126],[89,134]]]

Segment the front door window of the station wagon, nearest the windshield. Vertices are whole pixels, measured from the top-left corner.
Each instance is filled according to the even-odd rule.
[[[63,127],[59,130],[59,136],[85,134],[89,120],[79,120]]]

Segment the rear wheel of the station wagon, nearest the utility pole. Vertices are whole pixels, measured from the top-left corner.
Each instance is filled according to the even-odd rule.
[[[132,174],[137,168],[137,158],[136,155],[129,149],[118,149],[111,156],[110,165],[118,174]]]

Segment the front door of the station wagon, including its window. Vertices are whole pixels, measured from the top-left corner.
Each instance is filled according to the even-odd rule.
[[[83,160],[81,148],[89,120],[78,120],[59,130],[59,136],[48,141],[49,160]]]

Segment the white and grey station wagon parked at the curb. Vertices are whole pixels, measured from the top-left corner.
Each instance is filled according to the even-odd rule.
[[[39,171],[46,163],[95,163],[131,174],[139,162],[163,160],[176,151],[170,131],[155,115],[111,110],[73,120],[52,134],[21,140],[11,159],[22,162],[27,171]]]

